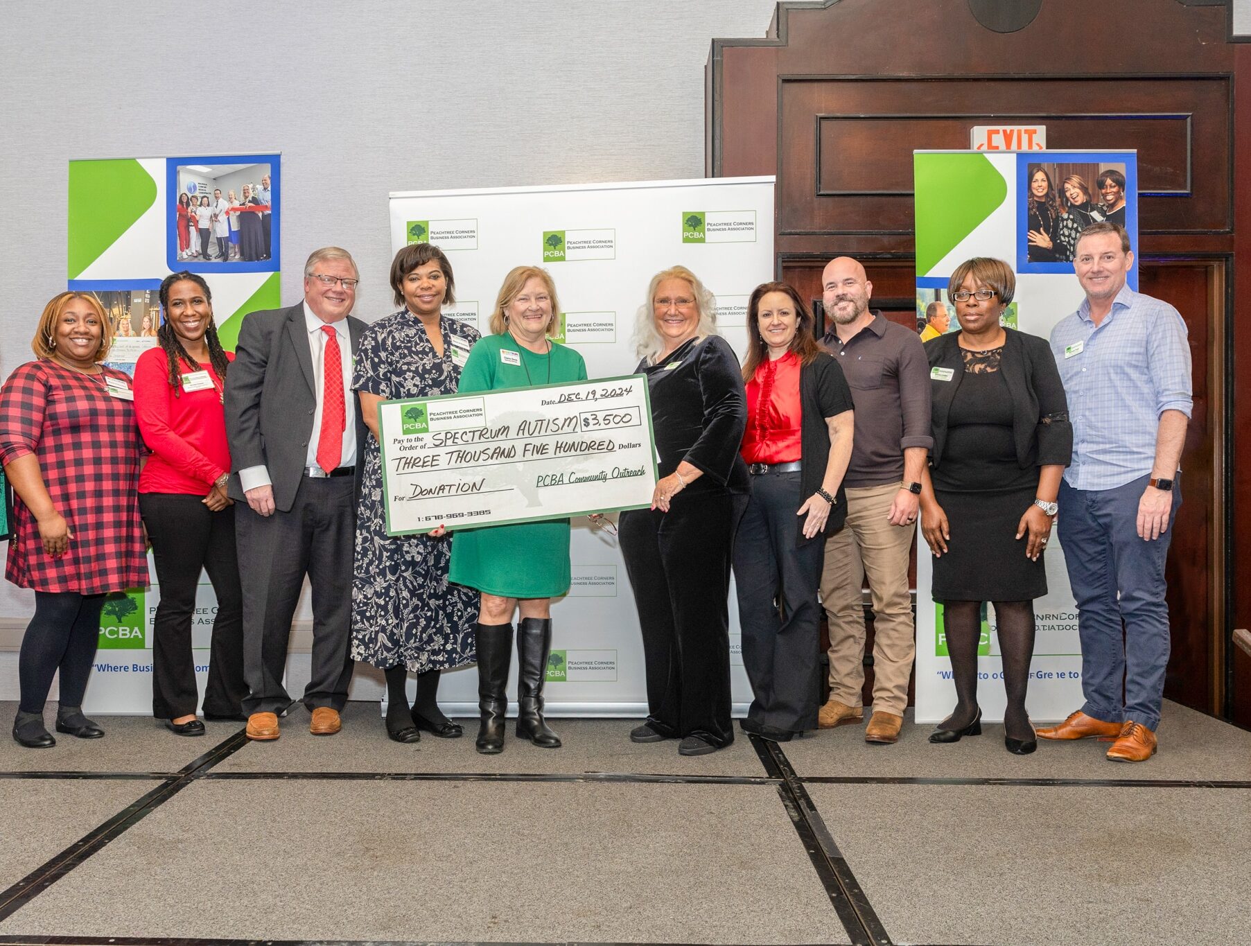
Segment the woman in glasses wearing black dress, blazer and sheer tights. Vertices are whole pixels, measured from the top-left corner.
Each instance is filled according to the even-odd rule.
[[[926,343],[934,445],[922,478],[921,533],[933,553],[933,598],[956,683],[956,708],[929,736],[981,733],[977,644],[983,602],[995,603],[1005,745],[1037,747],[1025,708],[1033,657],[1033,599],[1047,593],[1043,552],[1073,430],[1046,339],[1000,325],[1016,278],[976,258],[952,273],[947,298],[961,330]]]

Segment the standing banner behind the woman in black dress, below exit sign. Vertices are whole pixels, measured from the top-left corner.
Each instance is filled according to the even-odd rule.
[[[924,151],[913,155],[916,193],[917,313],[947,302],[952,272],[973,257],[1005,260],[1016,275],[1016,297],[1002,324],[1041,338],[1085,299],[1072,258],[1083,226],[1110,219],[1125,225],[1137,249],[1137,155],[1135,151]],[[1127,284],[1137,289],[1135,258]],[[948,332],[960,332],[948,304]],[[1022,511],[1023,513],[1025,511]],[[1043,561],[1047,594],[1037,598],[1028,710],[1036,722],[1062,720],[1082,702],[1077,607],[1063,561],[1063,536]],[[917,722],[938,722],[951,711],[955,684],[943,636],[942,604],[931,601],[932,558],[924,541],[917,557]],[[983,611],[978,647],[982,681],[1002,678],[995,608]],[[1002,720],[1002,686],[978,691],[983,720]]]

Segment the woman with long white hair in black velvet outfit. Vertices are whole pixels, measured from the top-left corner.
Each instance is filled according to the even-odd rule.
[[[729,562],[747,507],[743,375],[716,334],[714,300],[684,267],[657,273],[638,315],[661,481],[651,509],[620,516],[647,667],[634,742],[681,738],[702,756],[734,740],[729,720]]]

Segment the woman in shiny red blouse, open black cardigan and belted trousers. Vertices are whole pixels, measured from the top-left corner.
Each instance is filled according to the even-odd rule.
[[[824,537],[847,517],[852,393],[817,345],[812,314],[786,283],[747,307],[747,432],[752,497],[734,539],[743,667],[754,699],[744,732],[784,742],[817,728]]]

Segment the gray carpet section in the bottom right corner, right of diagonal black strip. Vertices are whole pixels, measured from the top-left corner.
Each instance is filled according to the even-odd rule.
[[[808,791],[896,942],[1251,941],[1251,791]]]

